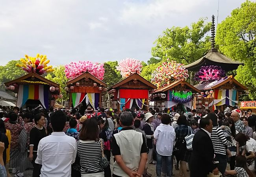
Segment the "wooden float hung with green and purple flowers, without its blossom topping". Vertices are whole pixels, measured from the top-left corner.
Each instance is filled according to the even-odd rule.
[[[149,94],[151,99],[151,105],[154,103],[154,107],[158,107],[160,110],[164,110],[165,107],[172,109],[172,107],[177,106],[180,111],[187,111],[192,109],[193,106],[193,95],[194,93],[200,92],[193,85],[190,85],[181,79],[175,81],[170,85],[160,87],[154,92],[152,90]]]

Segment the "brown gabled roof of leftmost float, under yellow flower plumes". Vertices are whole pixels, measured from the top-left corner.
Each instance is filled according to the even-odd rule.
[[[32,82],[30,82],[32,81]],[[58,83],[55,83],[53,81],[50,81],[46,79],[45,77],[40,76],[39,74],[35,72],[30,72],[24,76],[21,76],[17,79],[14,79],[12,81],[4,83],[5,86],[9,86],[12,84],[17,84],[17,85],[24,85],[24,84],[44,84],[44,85],[51,85],[54,87],[59,87]],[[17,92],[18,90],[13,90],[14,92]]]

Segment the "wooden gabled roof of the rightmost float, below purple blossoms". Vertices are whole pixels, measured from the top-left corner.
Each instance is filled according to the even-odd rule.
[[[237,90],[248,90],[247,87],[239,83],[232,75],[228,76],[227,78],[222,78],[219,81],[209,81],[209,82],[199,83],[197,85],[194,85],[194,87],[197,88],[198,90],[213,90],[221,87],[226,83],[233,83],[236,86]]]

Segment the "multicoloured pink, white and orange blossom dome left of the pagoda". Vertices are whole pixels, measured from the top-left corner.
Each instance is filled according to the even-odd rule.
[[[187,79],[188,72],[183,64],[167,59],[152,73],[151,81],[158,88],[170,85],[174,81]]]

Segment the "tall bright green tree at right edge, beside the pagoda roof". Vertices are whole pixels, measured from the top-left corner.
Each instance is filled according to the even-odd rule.
[[[256,3],[246,1],[234,9],[217,28],[216,44],[227,57],[244,61],[235,78],[249,88],[249,98],[256,99]]]

